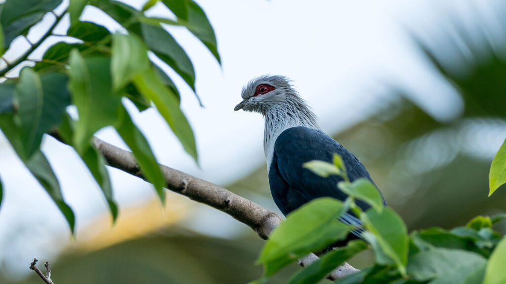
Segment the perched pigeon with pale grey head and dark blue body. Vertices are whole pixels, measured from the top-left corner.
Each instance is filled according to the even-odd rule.
[[[337,153],[343,159],[350,181],[366,178],[372,182],[364,165],[320,130],[316,115],[288,78],[265,75],[252,79],[242,89],[241,97],[243,100],[235,111],[258,112],[265,118],[264,151],[271,194],[285,216],[315,198],[333,197],[341,201],[347,198],[336,185],[343,180],[341,176],[320,177],[303,168],[305,162],[322,160],[331,163],[333,154]],[[361,200],[356,204],[364,211],[370,207]],[[351,211],[339,219],[350,225],[361,224]],[[346,245],[349,240],[357,239],[360,233],[360,229],[354,230],[346,240],[334,246]]]

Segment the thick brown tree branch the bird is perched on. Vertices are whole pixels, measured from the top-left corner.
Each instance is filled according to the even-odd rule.
[[[65,143],[58,132],[52,131],[50,135]],[[115,147],[96,137],[93,138],[93,143],[107,160],[109,166],[146,180],[131,152]],[[248,225],[264,240],[268,239],[269,234],[282,220],[275,212],[267,210],[257,203],[238,196],[214,183],[164,165],[160,165],[160,169],[169,190],[227,213],[239,222]],[[316,260],[318,260],[318,257],[315,254],[309,254],[298,262],[305,267]],[[358,270],[345,262],[334,269],[327,278],[336,280],[356,271]]]

